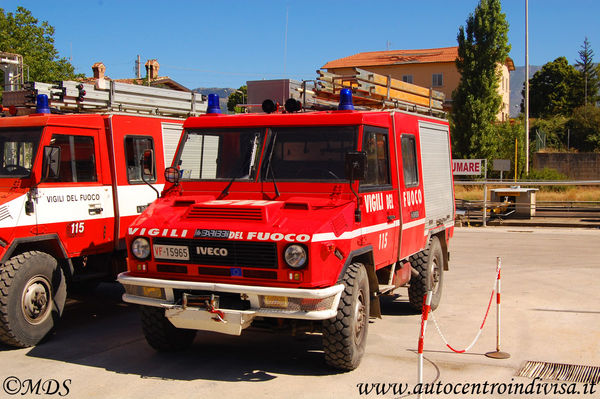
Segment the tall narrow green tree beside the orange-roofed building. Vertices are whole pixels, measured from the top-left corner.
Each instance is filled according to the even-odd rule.
[[[508,22],[500,0],[480,0],[458,31],[456,67],[461,80],[452,93],[450,120],[455,157],[491,158],[498,142],[494,123],[502,104],[499,65],[510,51]]]

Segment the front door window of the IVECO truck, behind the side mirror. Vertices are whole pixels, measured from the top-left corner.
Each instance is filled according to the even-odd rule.
[[[363,151],[367,153],[367,178],[361,186],[390,184],[387,130],[365,126]]]

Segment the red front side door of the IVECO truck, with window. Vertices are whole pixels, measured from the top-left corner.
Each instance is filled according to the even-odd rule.
[[[373,247],[375,267],[396,261],[398,194],[391,184],[388,129],[365,126],[362,150],[367,154],[367,177],[361,182],[363,232]]]

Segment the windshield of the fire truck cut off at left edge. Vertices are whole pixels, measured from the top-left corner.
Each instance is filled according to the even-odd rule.
[[[29,177],[41,129],[0,129],[0,177]]]

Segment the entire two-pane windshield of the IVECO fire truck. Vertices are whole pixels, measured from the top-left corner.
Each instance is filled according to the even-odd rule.
[[[177,165],[181,180],[255,181],[262,154],[262,181],[342,181],[357,137],[357,126],[192,129]]]

